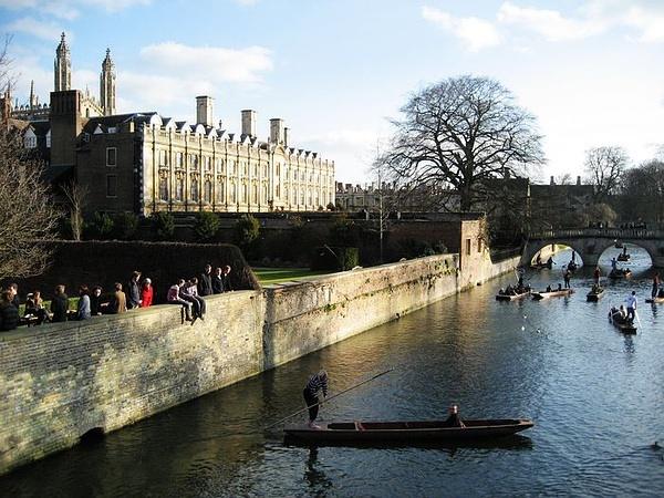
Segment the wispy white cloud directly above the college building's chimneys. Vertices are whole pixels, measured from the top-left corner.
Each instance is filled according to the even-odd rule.
[[[165,42],[141,49],[141,58],[157,70],[217,83],[260,82],[261,74],[272,69],[270,55],[262,46],[237,50]]]

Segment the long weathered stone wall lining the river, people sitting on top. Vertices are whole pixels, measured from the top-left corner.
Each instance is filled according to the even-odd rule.
[[[458,255],[434,256],[225,293],[194,325],[164,304],[2,333],[0,474],[453,294],[468,282],[458,268]]]

